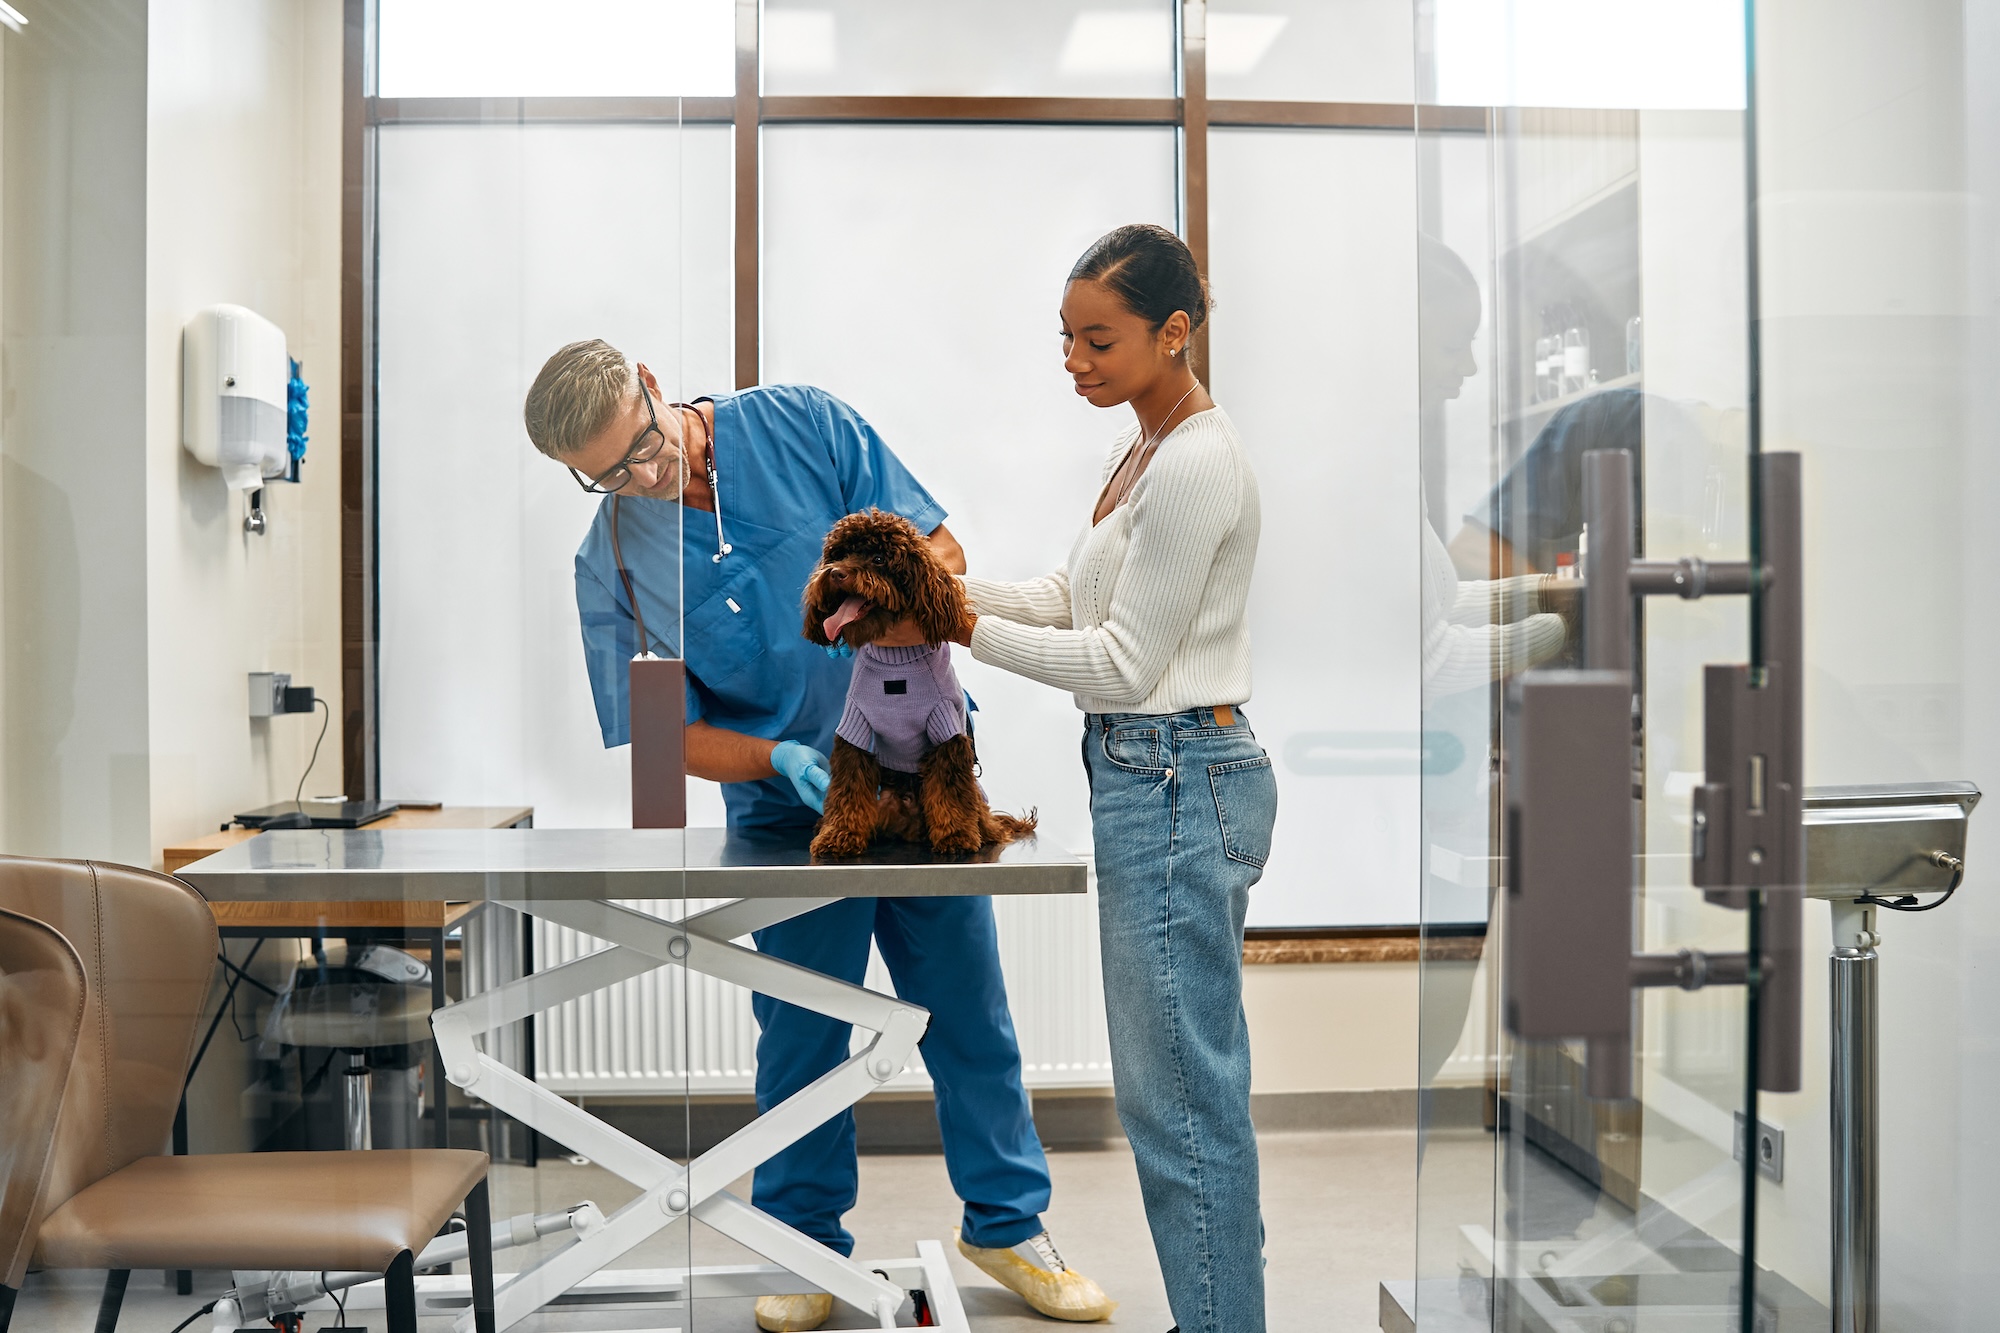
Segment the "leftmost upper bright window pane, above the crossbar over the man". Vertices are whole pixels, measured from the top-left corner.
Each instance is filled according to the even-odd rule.
[[[380,0],[386,98],[730,96],[732,0]]]

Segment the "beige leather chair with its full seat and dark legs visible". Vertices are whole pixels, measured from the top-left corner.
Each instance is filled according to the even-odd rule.
[[[484,1153],[158,1155],[216,967],[216,919],[194,889],[116,865],[0,857],[0,909],[54,927],[84,961],[82,1037],[30,1267],[110,1269],[100,1331],[132,1269],[348,1269],[386,1275],[390,1333],[416,1333],[414,1257],[464,1201],[474,1317],[492,1333]]]

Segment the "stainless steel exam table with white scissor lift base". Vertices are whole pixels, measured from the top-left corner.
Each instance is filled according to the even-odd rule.
[[[898,1311],[908,1307],[916,1319],[966,1333],[940,1241],[920,1241],[914,1257],[846,1259],[724,1189],[902,1073],[930,1023],[918,1005],[734,941],[838,899],[1084,893],[1084,863],[1076,857],[1030,839],[974,857],[886,847],[862,861],[814,865],[802,839],[750,839],[722,829],[300,829],[250,839],[186,867],[180,877],[218,903],[490,903],[612,945],[432,1015],[454,1085],[642,1191],[602,1225],[510,1275],[494,1297],[498,1327],[572,1301],[598,1311],[664,1303],[686,1319],[692,1295],[820,1289],[884,1329],[896,1327]],[[670,899],[724,901],[684,921],[626,907]],[[686,1165],[538,1087],[474,1041],[658,967],[684,967],[854,1023],[872,1031],[874,1041]],[[682,1217],[700,1219],[772,1263],[606,1271]],[[460,1313],[458,1323],[468,1329],[464,1283],[464,1277],[420,1279],[420,1309]],[[912,1293],[922,1293],[922,1303]]]

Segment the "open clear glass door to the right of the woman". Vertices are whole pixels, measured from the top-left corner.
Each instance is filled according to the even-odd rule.
[[[1462,755],[1422,803],[1422,1329],[1792,1299],[1746,1305],[1738,1143],[1796,893],[1690,855],[1704,669],[1758,650],[1746,86],[1728,6],[1420,6],[1424,731]]]

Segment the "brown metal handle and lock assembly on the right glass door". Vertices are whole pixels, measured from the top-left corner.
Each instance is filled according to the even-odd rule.
[[[1508,691],[1506,1019],[1530,1039],[1584,1039],[1592,1097],[1632,1095],[1632,989],[1754,985],[1758,1087],[1800,1087],[1800,823],[1804,632],[1798,454],[1756,460],[1764,560],[1634,560],[1632,454],[1584,454],[1584,671],[1530,671]],[[1694,883],[1760,913],[1754,953],[1632,953],[1634,596],[1752,594],[1762,666],[1704,673],[1706,781],[1694,793]]]

